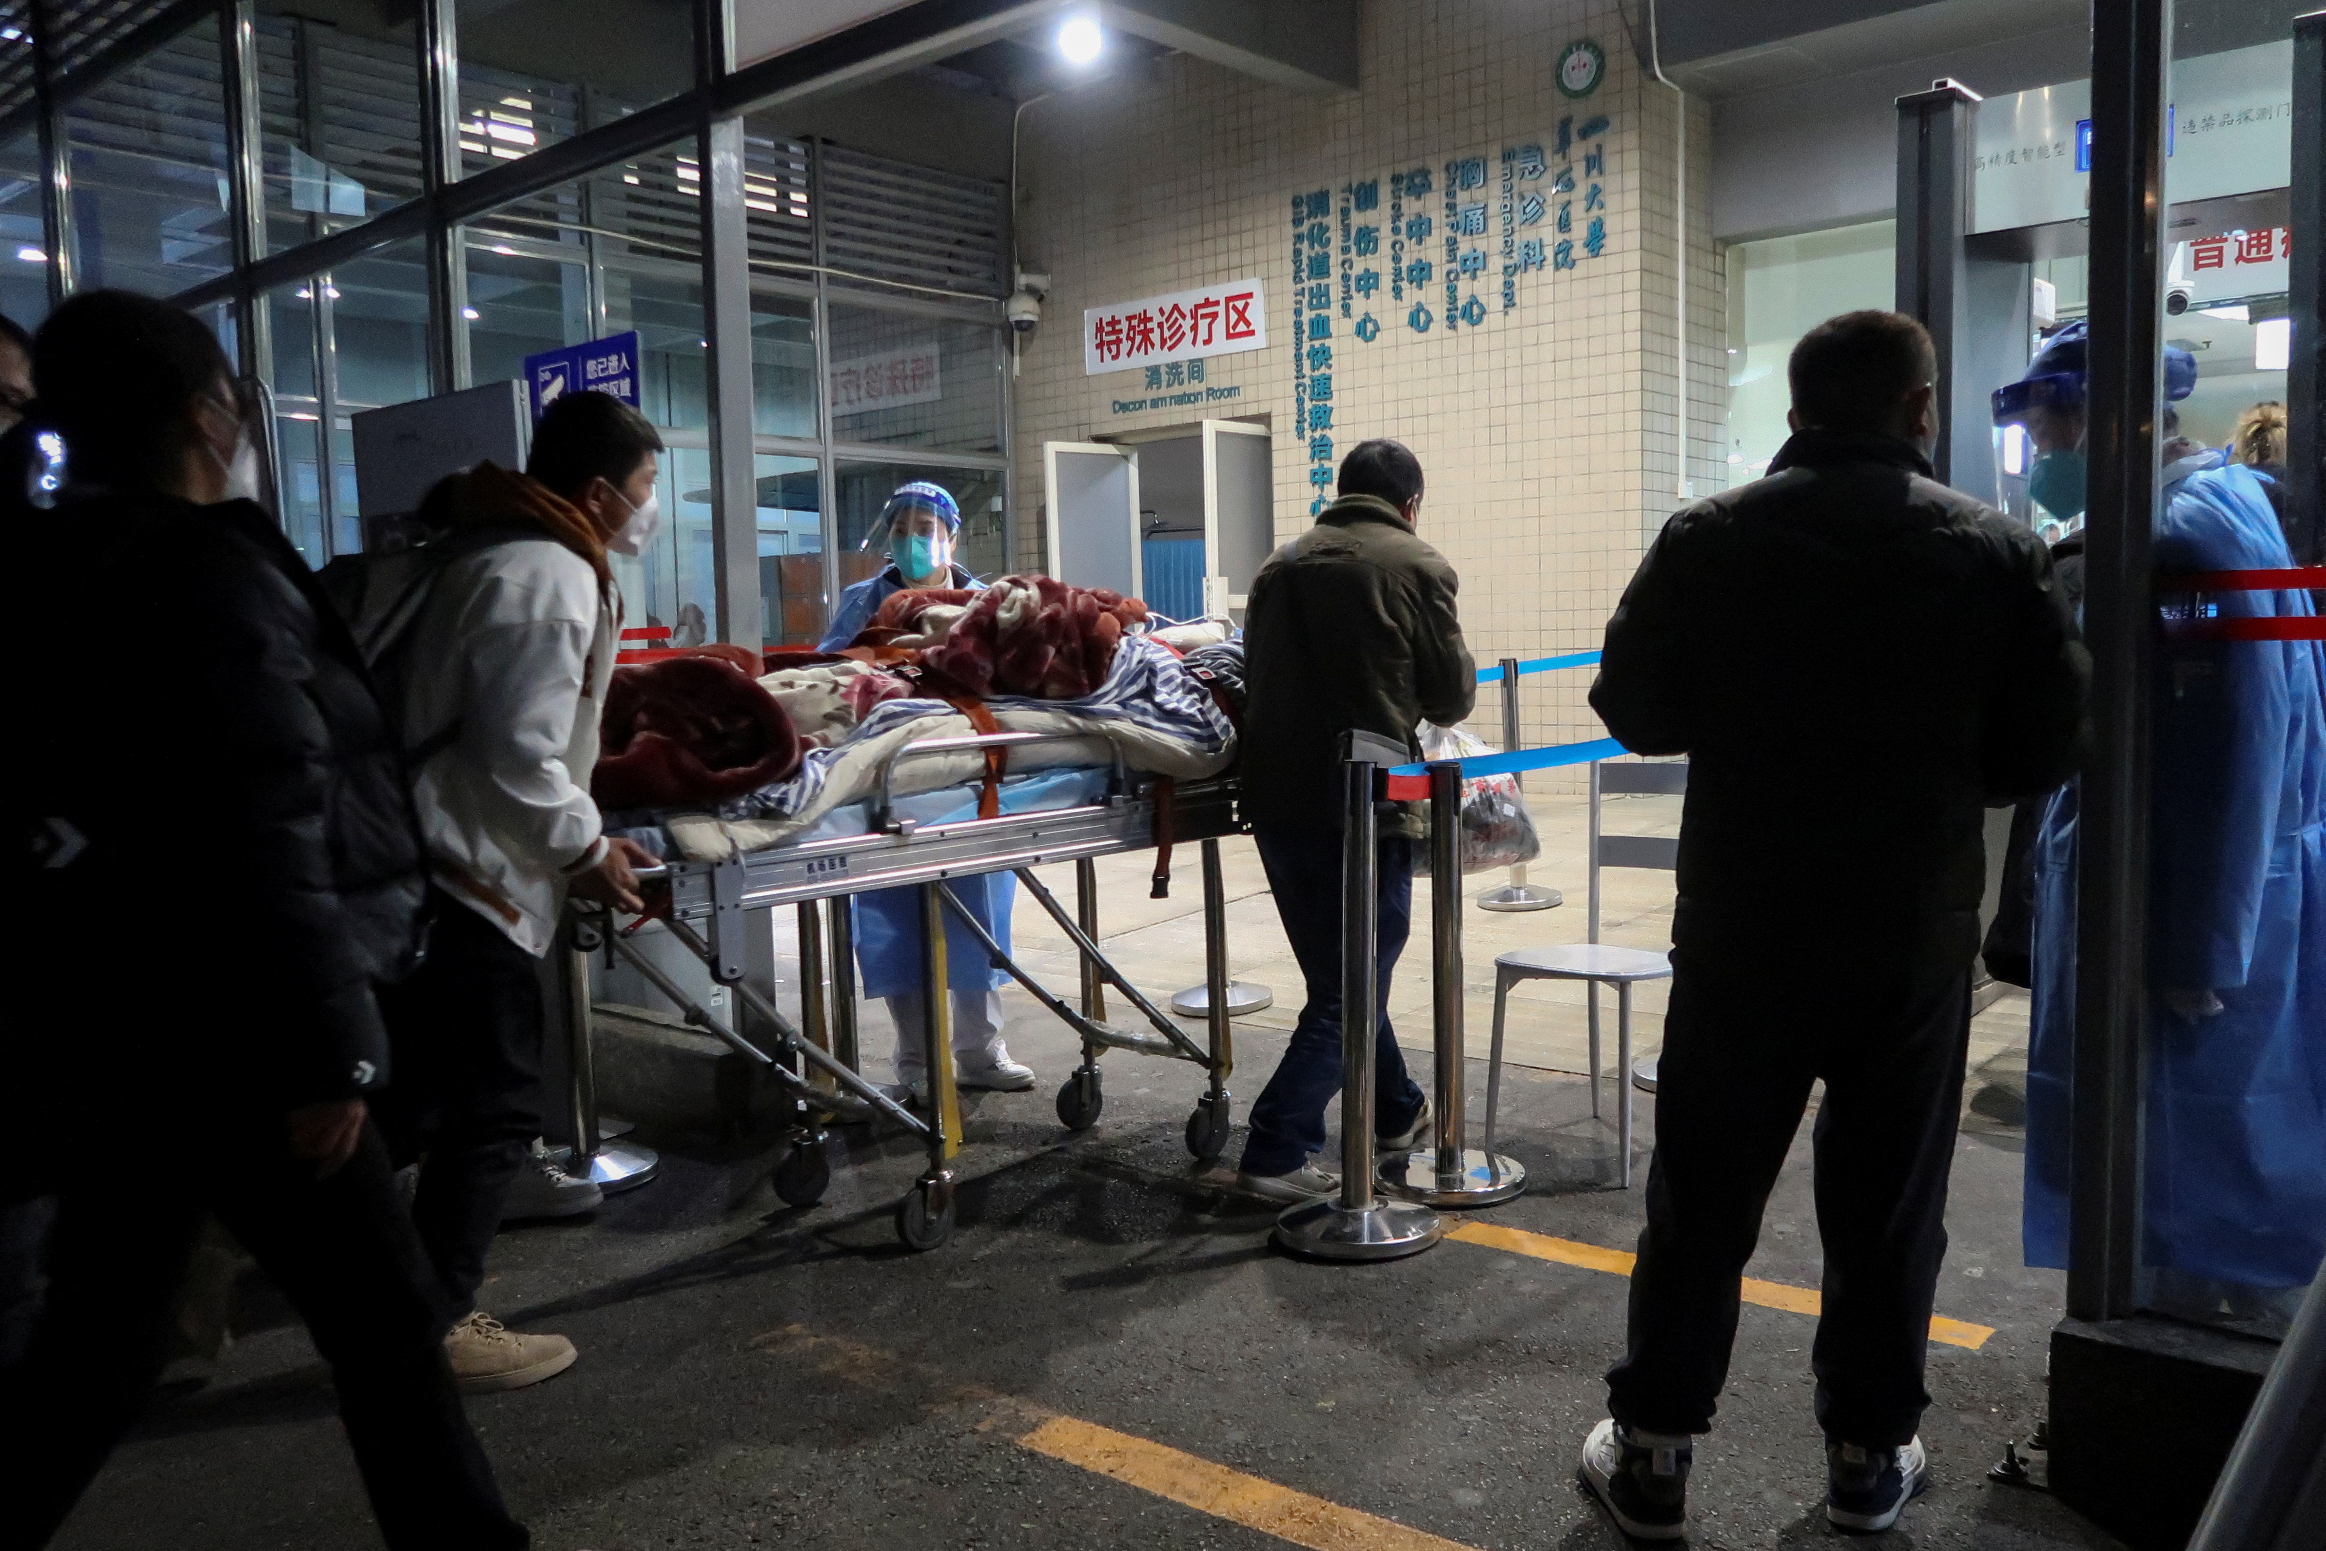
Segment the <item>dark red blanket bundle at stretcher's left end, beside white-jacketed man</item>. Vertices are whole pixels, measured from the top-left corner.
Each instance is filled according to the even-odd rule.
[[[591,795],[602,807],[723,802],[800,767],[784,707],[723,656],[616,667]]]

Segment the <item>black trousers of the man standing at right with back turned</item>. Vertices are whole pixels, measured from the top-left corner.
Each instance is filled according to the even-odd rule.
[[[1805,970],[1777,949],[1672,951],[1631,1339],[1607,1374],[1624,1425],[1712,1428],[1761,1212],[1810,1084],[1824,1079],[1817,1421],[1826,1437],[1868,1449],[1914,1437],[1931,1405],[1921,1379],[1947,1253],[1970,972],[1917,972],[1905,958]]]

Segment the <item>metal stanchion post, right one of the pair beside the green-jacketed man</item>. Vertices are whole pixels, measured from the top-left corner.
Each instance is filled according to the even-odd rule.
[[[1465,1146],[1461,963],[1461,763],[1430,765],[1430,1053],[1435,1146],[1382,1158],[1382,1188],[1430,1207],[1491,1207],[1526,1188],[1526,1167]]]

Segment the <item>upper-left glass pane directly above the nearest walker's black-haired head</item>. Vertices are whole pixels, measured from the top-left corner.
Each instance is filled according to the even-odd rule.
[[[65,135],[81,291],[170,295],[233,267],[214,19],[67,102]]]

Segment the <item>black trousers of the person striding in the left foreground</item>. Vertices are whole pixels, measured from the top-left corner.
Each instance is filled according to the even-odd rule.
[[[156,1170],[137,1149],[114,1149],[116,1160],[79,1149],[63,1172],[47,1302],[23,1360],[0,1372],[0,1416],[16,1423],[16,1442],[0,1449],[0,1549],[47,1544],[137,1421],[170,1346],[179,1274],[212,1212],[330,1363],[388,1546],[528,1544],[461,1411],[437,1281],[377,1130],[365,1128],[356,1156],[319,1181],[281,1125],[281,1116],[207,1125],[195,1167]]]

